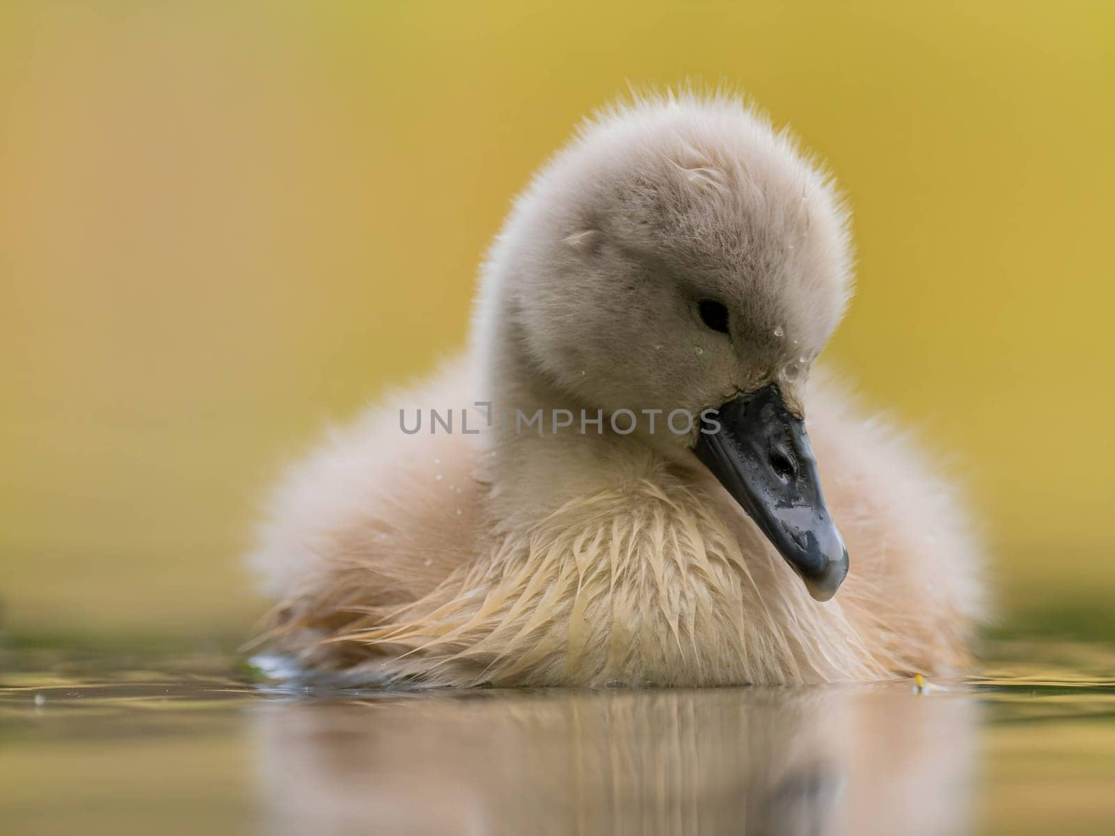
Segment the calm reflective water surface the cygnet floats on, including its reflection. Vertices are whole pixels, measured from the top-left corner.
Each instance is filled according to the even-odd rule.
[[[921,693],[377,692],[25,654],[0,673],[0,830],[1115,832],[1115,652],[995,658]]]

